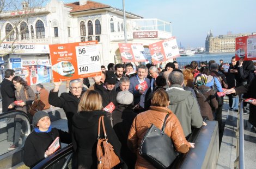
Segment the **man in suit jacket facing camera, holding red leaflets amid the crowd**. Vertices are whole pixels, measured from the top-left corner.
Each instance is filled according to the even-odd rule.
[[[145,96],[148,90],[150,89],[150,80],[145,77],[147,67],[143,64],[139,65],[137,67],[137,75],[131,77],[130,79],[130,87],[129,91],[133,94],[134,97],[134,105],[137,105],[139,103],[139,106],[141,106],[144,109],[144,103],[145,103]],[[143,83],[144,81],[147,82],[147,88],[146,89],[136,89],[136,86],[138,86],[140,83]]]

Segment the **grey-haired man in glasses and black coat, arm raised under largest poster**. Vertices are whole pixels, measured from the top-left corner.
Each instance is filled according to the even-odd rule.
[[[50,91],[48,101],[52,106],[63,108],[68,119],[69,133],[71,133],[72,117],[77,113],[80,97],[84,93],[82,91],[83,81],[80,79],[71,80],[69,82],[69,93],[64,92],[58,97],[61,84],[62,81],[54,82],[54,88]]]

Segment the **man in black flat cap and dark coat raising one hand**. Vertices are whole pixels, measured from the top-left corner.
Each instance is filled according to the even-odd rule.
[[[117,77],[112,71],[106,72],[105,83],[101,84],[100,79],[95,77],[95,90],[100,93],[102,97],[102,106],[106,107],[109,103],[113,102],[117,105],[117,92],[115,92],[115,83]]]

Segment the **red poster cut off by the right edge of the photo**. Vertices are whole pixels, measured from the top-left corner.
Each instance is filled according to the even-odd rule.
[[[235,59],[256,60],[256,35],[235,38]]]

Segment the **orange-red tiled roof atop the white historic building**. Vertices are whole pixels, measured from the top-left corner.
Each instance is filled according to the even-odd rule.
[[[87,1],[87,3],[85,5],[79,5],[79,2],[68,3],[68,4],[65,4],[65,5],[73,8],[70,12],[77,12],[77,11],[85,11],[85,10],[111,7],[109,5],[102,4],[102,3],[99,3],[99,2],[94,2],[94,1]]]

